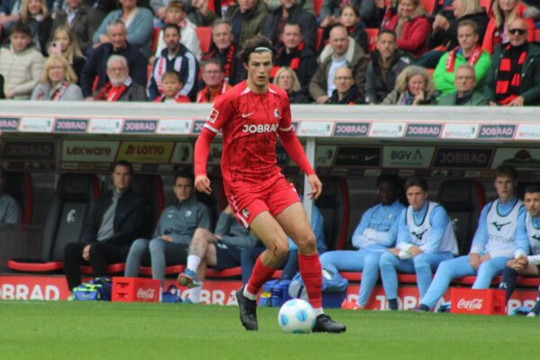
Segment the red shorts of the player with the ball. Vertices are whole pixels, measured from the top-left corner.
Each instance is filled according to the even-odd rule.
[[[224,186],[230,209],[246,229],[259,213],[269,211],[275,216],[294,202],[300,202],[294,185],[287,182],[284,175],[275,176],[274,181],[266,181],[266,184],[257,189],[257,192],[246,190],[247,186],[243,187],[239,183]]]

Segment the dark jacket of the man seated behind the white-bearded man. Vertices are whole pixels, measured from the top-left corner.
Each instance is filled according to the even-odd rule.
[[[142,55],[142,52],[131,46],[129,42],[128,46],[120,51],[113,51],[112,45],[105,43],[95,48],[89,54],[86,65],[83,68],[80,83],[85,97],[92,95],[92,85],[94,85],[95,76],[98,76],[96,89],[101,89],[107,83],[107,59],[113,54],[121,55],[128,59],[130,76],[134,82],[143,86],[147,85],[147,58]]]

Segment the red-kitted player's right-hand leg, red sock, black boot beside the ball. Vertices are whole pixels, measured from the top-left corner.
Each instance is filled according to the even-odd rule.
[[[330,319],[322,311],[322,267],[317,252],[317,238],[301,202],[293,202],[275,215],[275,219],[298,247],[300,275],[306,285],[308,299],[317,314],[314,332],[343,332],[347,328]]]

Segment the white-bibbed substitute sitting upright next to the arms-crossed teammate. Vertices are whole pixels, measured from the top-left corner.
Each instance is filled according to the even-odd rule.
[[[409,206],[401,211],[396,247],[379,262],[390,310],[398,310],[398,271],[417,275],[420,298],[428,291],[433,272],[457,255],[454,229],[445,208],[428,201],[428,182],[412,177],[405,183]]]

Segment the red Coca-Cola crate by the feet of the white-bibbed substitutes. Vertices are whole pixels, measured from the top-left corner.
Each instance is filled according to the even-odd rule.
[[[506,314],[504,290],[456,287],[450,289],[450,301],[450,312],[455,314]]]

